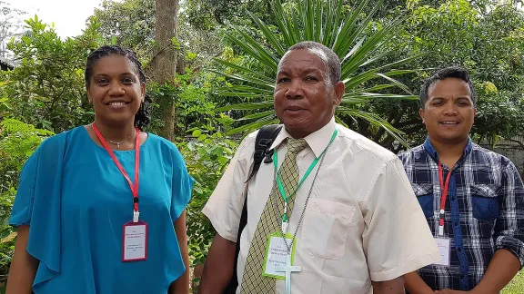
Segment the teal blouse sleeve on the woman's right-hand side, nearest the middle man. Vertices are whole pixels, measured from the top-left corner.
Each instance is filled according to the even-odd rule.
[[[171,220],[180,217],[182,211],[187,207],[191,200],[191,192],[195,180],[187,172],[186,162],[182,154],[175,148],[173,155],[173,180],[171,188]]]

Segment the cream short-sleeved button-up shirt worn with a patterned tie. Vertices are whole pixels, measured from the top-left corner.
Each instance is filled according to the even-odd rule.
[[[294,260],[302,271],[291,274],[295,294],[371,293],[371,280],[396,279],[440,260],[428,222],[395,154],[331,120],[305,138],[308,146],[297,154],[300,178],[328,146],[336,127],[338,135],[324,162],[298,189],[289,220],[287,231],[294,233],[305,210]],[[240,144],[203,210],[218,234],[235,242],[256,137],[253,132]],[[283,128],[272,146],[277,148],[278,166],[287,152],[287,137],[291,136]],[[237,262],[240,282],[274,176],[273,163],[262,163],[248,182],[247,226]],[[284,280],[277,279],[277,293],[284,290]]]

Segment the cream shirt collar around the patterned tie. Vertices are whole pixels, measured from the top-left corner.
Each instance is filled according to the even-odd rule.
[[[320,130],[317,132],[312,132],[304,138],[309,148],[311,148],[311,150],[315,153],[315,157],[318,158],[320,154],[324,152],[326,147],[328,147],[328,143],[331,141],[331,137],[333,136],[333,132],[335,132],[336,127],[337,124],[335,123],[335,117],[332,117],[331,121],[329,121]],[[291,135],[286,130],[286,126],[284,126],[282,131],[278,133],[277,138],[271,145],[271,149],[277,148],[287,138],[293,137],[291,137]]]

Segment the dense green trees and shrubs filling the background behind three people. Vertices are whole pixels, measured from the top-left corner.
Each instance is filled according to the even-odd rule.
[[[0,5],[11,9],[2,10],[5,14],[21,15]],[[242,135],[277,122],[272,111],[277,60],[297,41],[316,40],[335,50],[347,85],[338,122],[394,152],[424,139],[418,87],[435,68],[447,65],[466,67],[474,77],[479,93],[474,140],[496,144],[524,131],[520,1],[187,0],[180,5],[176,34],[167,44],[158,40],[154,0],[105,1],[83,34],[66,39],[46,25],[52,19],[34,16],[23,28],[12,15],[0,22],[0,31],[13,36],[6,54],[16,64],[0,73],[0,282],[14,249],[15,232],[6,220],[19,172],[45,137],[93,120],[83,72],[86,55],[101,44],[122,44],[139,54],[155,101],[147,131],[173,139],[196,179],[188,208],[194,265],[205,260],[214,235],[200,210]],[[156,73],[156,59],[166,52],[175,56],[167,79]],[[524,142],[519,144],[524,150]]]

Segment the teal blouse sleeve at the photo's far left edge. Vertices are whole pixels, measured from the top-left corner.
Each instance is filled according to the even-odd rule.
[[[20,173],[20,181],[18,182],[15,203],[13,204],[11,217],[9,218],[9,224],[13,227],[29,225],[31,223],[33,203],[35,201],[36,171],[38,170],[39,151],[40,149],[37,149],[33,155],[29,157]]]

